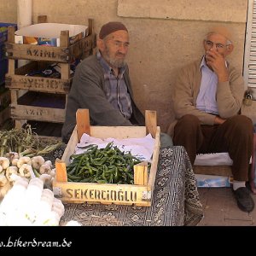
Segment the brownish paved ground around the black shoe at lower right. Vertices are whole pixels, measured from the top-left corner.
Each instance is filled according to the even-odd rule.
[[[198,188],[204,218],[198,226],[256,226],[256,207],[242,212],[231,188]],[[256,195],[251,194],[256,204]]]

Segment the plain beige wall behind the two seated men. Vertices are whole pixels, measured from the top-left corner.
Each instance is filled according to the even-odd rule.
[[[95,20],[98,33],[109,20],[122,21],[130,32],[127,62],[136,101],[158,112],[162,131],[173,119],[170,96],[179,67],[203,54],[202,40],[212,25],[234,32],[230,61],[242,71],[247,0],[33,0],[33,21],[87,24]],[[2,22],[16,22],[16,0],[0,0]],[[0,20],[0,21],[1,21]]]

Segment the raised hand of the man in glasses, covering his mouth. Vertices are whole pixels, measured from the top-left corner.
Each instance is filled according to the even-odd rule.
[[[225,66],[224,56],[218,53],[217,50],[209,49],[206,54],[207,66],[210,67],[217,75],[219,82],[229,80],[229,73]]]

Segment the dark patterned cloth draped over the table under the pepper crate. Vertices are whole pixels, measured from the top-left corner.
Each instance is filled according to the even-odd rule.
[[[203,217],[195,175],[181,146],[160,149],[151,207],[64,204],[60,224],[75,220],[84,226],[196,225]]]

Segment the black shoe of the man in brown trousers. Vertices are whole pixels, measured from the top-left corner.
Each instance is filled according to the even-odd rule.
[[[241,187],[233,190],[233,192],[236,197],[237,206],[240,210],[243,212],[252,212],[254,208],[254,201],[250,195],[250,191],[245,187]]]

